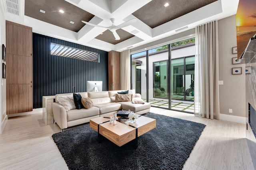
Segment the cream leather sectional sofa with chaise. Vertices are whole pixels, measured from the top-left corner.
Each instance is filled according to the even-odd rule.
[[[54,116],[54,122],[58,124],[60,129],[66,129],[68,127],[79,125],[82,123],[87,123],[90,119],[100,116],[107,116],[113,113],[117,113],[119,110],[129,110],[134,111],[139,115],[147,113],[150,111],[150,103],[145,102],[144,104],[135,104],[132,101],[128,102],[116,102],[117,92],[122,92],[124,90],[116,91],[102,91],[102,92],[81,92],[82,98],[90,98],[93,102],[93,106],[89,109],[66,109],[59,104],[57,96],[59,95],[73,95],[69,94],[56,94],[55,102],[52,103],[52,110]]]

